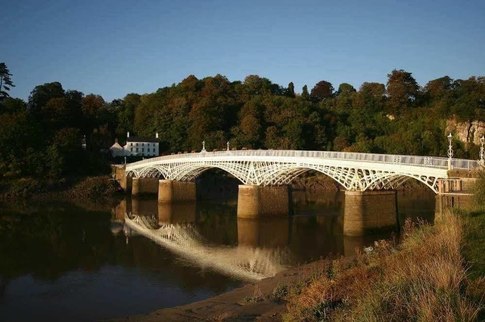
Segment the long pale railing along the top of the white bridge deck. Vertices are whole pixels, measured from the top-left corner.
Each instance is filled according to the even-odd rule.
[[[217,156],[268,156],[268,157],[297,157],[297,158],[319,158],[360,161],[371,163],[385,163],[405,166],[417,166],[430,169],[451,169],[454,170],[477,170],[481,169],[480,162],[467,159],[450,159],[437,156],[420,155],[397,155],[397,154],[375,154],[375,153],[355,153],[355,152],[335,152],[335,151],[300,151],[300,150],[237,150],[237,151],[215,151],[200,153],[183,153],[158,156],[150,159],[141,160],[130,164],[138,166],[145,163],[180,159],[180,158],[204,158]]]

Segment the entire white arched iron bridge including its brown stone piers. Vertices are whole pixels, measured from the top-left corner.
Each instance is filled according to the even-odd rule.
[[[415,179],[438,193],[449,170],[482,169],[479,161],[432,156],[329,151],[242,150],[173,154],[126,165],[132,195],[158,194],[158,202],[193,202],[194,179],[208,169],[239,179],[237,216],[260,218],[290,213],[288,184],[309,170],[331,178],[345,190],[344,234],[396,227],[396,188]]]

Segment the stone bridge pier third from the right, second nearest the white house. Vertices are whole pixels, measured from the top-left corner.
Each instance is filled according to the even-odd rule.
[[[159,203],[194,202],[195,200],[196,187],[194,182],[158,181]]]

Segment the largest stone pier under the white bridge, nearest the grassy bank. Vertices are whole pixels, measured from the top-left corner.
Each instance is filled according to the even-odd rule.
[[[345,192],[344,235],[362,236],[396,225],[396,191]]]

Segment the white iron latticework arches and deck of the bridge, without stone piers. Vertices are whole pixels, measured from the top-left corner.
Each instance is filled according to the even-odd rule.
[[[438,180],[448,170],[474,171],[477,160],[434,156],[295,150],[238,150],[159,156],[130,163],[126,175],[192,181],[207,169],[229,172],[243,184],[280,186],[300,174],[316,170],[346,190],[395,189],[414,178],[438,192]]]

